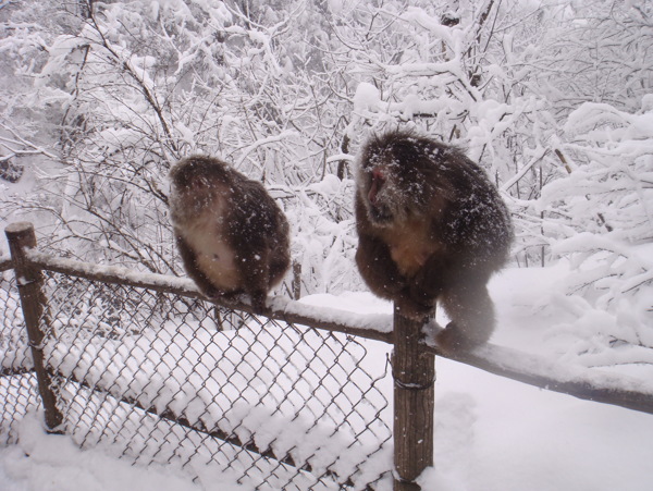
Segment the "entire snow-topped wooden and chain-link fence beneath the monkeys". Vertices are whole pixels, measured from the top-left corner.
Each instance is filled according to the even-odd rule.
[[[280,297],[255,316],[242,302],[207,302],[188,280],[44,255],[28,224],[10,225],[8,237],[0,272],[13,268],[17,285],[2,273],[7,441],[36,405],[38,378],[48,427],[81,445],[110,442],[196,475],[218,466],[257,489],[419,489],[433,458],[439,354],[422,326]],[[653,413],[643,381],[493,345],[449,357]]]

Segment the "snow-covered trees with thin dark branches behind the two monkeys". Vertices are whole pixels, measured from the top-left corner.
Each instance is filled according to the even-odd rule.
[[[616,0],[9,2],[0,165],[29,162],[40,187],[3,211],[40,211],[59,253],[181,272],[165,176],[208,152],[280,200],[305,292],[356,289],[353,156],[404,125],[480,162],[513,210],[516,259],[540,265],[582,231],[583,206],[600,231],[629,226],[596,196],[574,201],[569,186],[606,161],[590,152],[606,140],[579,144],[590,130],[574,121],[644,118],[650,13]]]

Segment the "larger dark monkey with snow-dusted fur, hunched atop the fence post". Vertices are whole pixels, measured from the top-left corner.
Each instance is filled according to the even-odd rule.
[[[421,320],[442,302],[445,349],[486,342],[486,283],[507,259],[513,226],[485,173],[458,149],[410,132],[370,138],[359,157],[356,263],[370,290]]]

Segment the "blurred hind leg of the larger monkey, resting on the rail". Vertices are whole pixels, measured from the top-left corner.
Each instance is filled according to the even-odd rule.
[[[442,300],[452,319],[435,339],[442,349],[470,349],[490,340],[494,330],[494,305],[482,280],[447,289]]]

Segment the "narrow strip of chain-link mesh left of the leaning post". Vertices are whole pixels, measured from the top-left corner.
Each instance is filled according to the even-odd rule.
[[[0,271],[0,444],[14,443],[19,422],[38,406],[27,331],[13,271]]]

